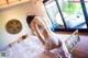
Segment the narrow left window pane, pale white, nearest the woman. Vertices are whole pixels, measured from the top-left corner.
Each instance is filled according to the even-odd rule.
[[[56,28],[65,28],[64,23],[62,21],[57,4],[55,0],[50,0],[44,3],[47,15],[53,24],[53,27]]]

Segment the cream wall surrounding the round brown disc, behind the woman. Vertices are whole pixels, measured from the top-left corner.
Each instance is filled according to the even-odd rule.
[[[36,14],[43,18],[42,1],[38,0],[36,3],[25,2],[0,10],[0,50],[20,36],[31,32],[25,21],[28,14]],[[11,19],[21,21],[23,28],[19,34],[9,34],[6,31],[6,24]]]

